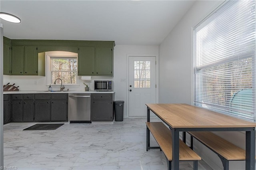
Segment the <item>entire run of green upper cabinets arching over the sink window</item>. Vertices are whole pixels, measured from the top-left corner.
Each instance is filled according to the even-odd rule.
[[[46,51],[78,53],[78,75],[113,76],[114,41],[10,40],[4,37],[4,75],[45,76]]]

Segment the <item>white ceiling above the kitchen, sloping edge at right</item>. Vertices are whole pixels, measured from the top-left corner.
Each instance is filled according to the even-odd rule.
[[[192,6],[192,0],[0,0],[10,39],[104,40],[116,45],[159,45]]]

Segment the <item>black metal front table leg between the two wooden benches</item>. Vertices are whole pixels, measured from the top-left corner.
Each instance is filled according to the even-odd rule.
[[[179,131],[177,128],[172,128],[172,170],[179,170]]]

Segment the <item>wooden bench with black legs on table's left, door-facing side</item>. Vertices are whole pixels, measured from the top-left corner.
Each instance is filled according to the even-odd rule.
[[[166,156],[168,162],[168,170],[172,169],[172,133],[162,122],[146,122],[146,151],[148,149],[160,148]],[[159,146],[150,146],[150,132],[156,139]],[[198,160],[201,160],[192,149],[180,140],[180,161],[193,161],[193,169],[198,169]]]

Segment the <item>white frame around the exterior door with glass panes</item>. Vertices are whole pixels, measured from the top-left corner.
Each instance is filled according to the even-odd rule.
[[[127,54],[126,55],[126,77],[127,77],[127,81],[126,81],[126,117],[129,117],[129,90],[128,90],[128,86],[129,86],[129,57],[156,57],[156,103],[158,103],[158,87],[159,87],[159,69],[158,69],[158,55],[156,54]]]

